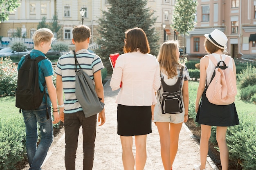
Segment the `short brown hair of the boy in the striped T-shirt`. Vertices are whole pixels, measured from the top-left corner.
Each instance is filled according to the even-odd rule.
[[[76,25],[72,31],[75,42],[83,42],[91,38],[91,29],[85,25]]]

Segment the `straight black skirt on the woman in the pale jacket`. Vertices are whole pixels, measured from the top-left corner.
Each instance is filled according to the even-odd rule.
[[[118,135],[135,136],[151,132],[151,106],[117,105]]]

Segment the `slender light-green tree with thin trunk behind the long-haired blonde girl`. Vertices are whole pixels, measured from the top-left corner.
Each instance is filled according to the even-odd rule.
[[[185,55],[186,35],[194,29],[195,13],[198,2],[196,0],[176,0],[171,27],[184,36],[183,56]],[[184,62],[184,57],[183,57]]]

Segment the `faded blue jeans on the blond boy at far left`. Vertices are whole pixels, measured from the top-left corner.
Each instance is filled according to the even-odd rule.
[[[46,117],[46,109],[51,119]],[[40,170],[53,141],[53,124],[51,107],[42,103],[36,110],[22,110],[26,125],[26,148],[29,170]],[[40,126],[41,140],[37,146],[37,122]]]

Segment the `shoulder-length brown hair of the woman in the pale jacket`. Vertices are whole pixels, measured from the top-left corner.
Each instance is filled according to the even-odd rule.
[[[126,44],[124,45],[124,53],[139,51],[141,53],[150,53],[150,47],[146,33],[138,27],[128,29],[125,32]]]

